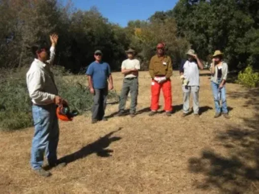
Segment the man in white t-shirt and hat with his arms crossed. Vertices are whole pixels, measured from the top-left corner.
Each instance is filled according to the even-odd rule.
[[[119,112],[118,116],[124,114],[124,109],[126,105],[126,100],[128,93],[131,92],[131,117],[136,115],[136,106],[139,93],[139,69],[140,62],[138,59],[135,59],[136,51],[133,49],[128,49],[126,51],[128,59],[124,60],[121,65],[121,73],[124,74],[123,85],[120,94],[119,101]]]

